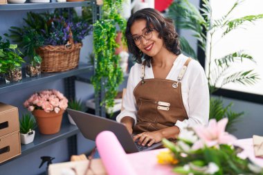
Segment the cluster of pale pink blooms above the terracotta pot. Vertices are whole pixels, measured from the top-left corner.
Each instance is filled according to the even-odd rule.
[[[31,112],[35,109],[42,109],[47,113],[51,111],[59,113],[60,110],[65,110],[68,107],[68,100],[60,91],[51,89],[34,93],[24,102],[24,107]]]

